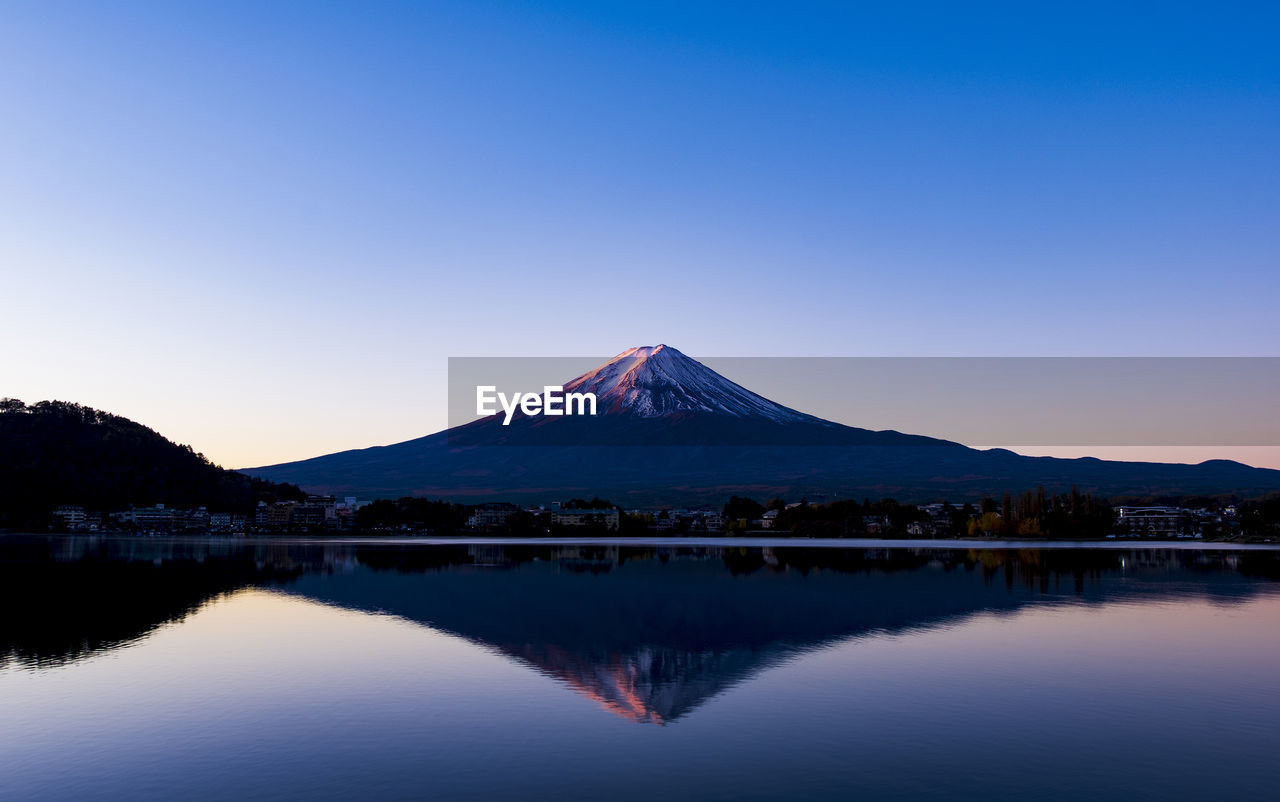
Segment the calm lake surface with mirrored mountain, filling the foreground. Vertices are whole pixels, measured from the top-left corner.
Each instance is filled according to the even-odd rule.
[[[0,537],[0,798],[1274,798],[1280,555]]]

